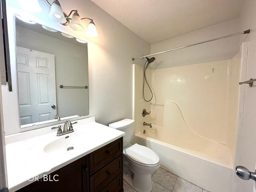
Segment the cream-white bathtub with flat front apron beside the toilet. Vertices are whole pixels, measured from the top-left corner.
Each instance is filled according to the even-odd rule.
[[[233,191],[234,169],[226,146],[198,136],[189,142],[166,138],[168,135],[161,129],[143,128],[135,134],[134,142],[154,150],[162,168],[207,191]]]

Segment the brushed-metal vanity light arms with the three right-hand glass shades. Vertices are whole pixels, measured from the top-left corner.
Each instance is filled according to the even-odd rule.
[[[84,27],[82,26],[81,20],[88,19],[90,23],[88,24],[86,35],[90,37],[98,37],[98,32],[96,30],[96,26],[91,18],[80,18],[77,10],[71,10],[70,13],[67,15],[63,12],[60,2],[58,0],[54,0],[52,4],[46,0],[46,2],[51,6],[50,12],[48,14],[49,18],[55,22],[61,23],[64,26],[70,26],[73,30],[76,31],[83,31]],[[74,13],[73,13],[74,12]],[[72,18],[70,18],[71,14]]]

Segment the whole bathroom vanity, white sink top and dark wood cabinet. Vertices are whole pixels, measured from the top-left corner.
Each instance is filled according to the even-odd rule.
[[[123,191],[124,132],[94,117],[77,122],[74,132],[59,137],[50,127],[6,137],[10,192]]]

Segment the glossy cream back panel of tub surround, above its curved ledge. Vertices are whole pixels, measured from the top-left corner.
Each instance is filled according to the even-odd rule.
[[[236,82],[229,80],[236,78],[235,74],[232,74],[231,62],[220,60],[152,70],[152,87],[156,103],[176,102],[192,130],[200,136],[227,144],[227,138],[230,137],[229,96],[232,95],[233,100],[238,97],[237,90],[232,90],[232,94],[229,94],[231,84],[238,87]],[[164,107],[152,106],[151,110],[152,122],[162,127],[161,116],[163,117]],[[236,129],[232,127],[230,130],[234,132]]]

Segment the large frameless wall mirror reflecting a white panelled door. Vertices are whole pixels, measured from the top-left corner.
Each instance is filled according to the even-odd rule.
[[[87,42],[15,17],[21,128],[86,116]]]

